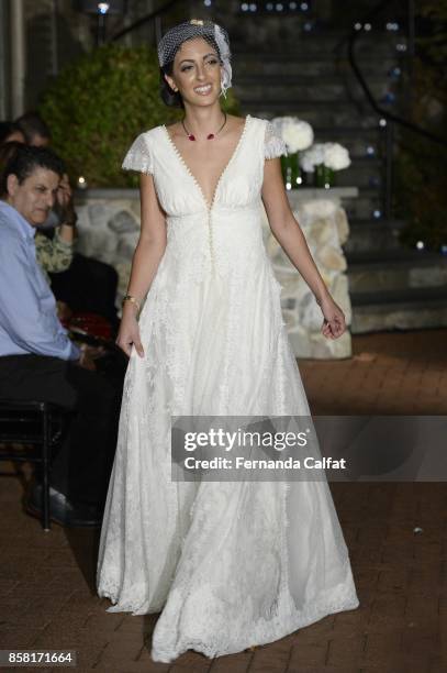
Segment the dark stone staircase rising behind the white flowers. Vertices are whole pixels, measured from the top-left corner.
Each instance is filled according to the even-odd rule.
[[[353,305],[353,333],[447,324],[447,258],[404,249],[404,222],[382,213],[383,126],[337,48],[344,32],[305,32],[284,16],[281,37],[267,30],[266,16],[238,15],[230,26],[234,88],[245,113],[283,114],[309,121],[316,142],[335,141],[350,153],[351,165],[337,174],[337,186],[356,186],[357,199],[344,201],[350,235],[345,245]],[[273,21],[273,18],[271,19]],[[267,26],[267,27],[266,27]],[[262,42],[264,41],[264,42]],[[360,67],[377,100],[399,110],[399,70],[404,43],[399,34],[366,33],[357,49]],[[280,46],[279,46],[280,44]]]

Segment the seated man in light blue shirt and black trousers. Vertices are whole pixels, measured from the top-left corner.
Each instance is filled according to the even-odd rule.
[[[51,475],[52,519],[98,525],[116,445],[122,376],[96,372],[72,343],[35,257],[34,235],[47,219],[64,174],[44,147],[19,150],[0,185],[0,398],[41,399],[72,410]],[[40,484],[29,511],[41,508]]]

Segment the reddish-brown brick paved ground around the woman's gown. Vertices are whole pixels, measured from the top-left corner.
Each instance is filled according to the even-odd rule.
[[[446,338],[447,330],[356,336],[360,357],[302,361],[313,412],[446,413]],[[167,665],[148,653],[157,616],[107,614],[96,596],[98,532],[54,526],[44,533],[22,512],[21,478],[1,476],[0,648],[76,649],[77,671],[112,673],[446,672],[446,486],[331,488],[360,607],[254,652],[214,661],[189,652]]]

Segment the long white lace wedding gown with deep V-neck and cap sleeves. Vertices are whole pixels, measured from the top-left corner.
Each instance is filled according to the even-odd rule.
[[[98,593],[110,611],[163,610],[154,661],[238,652],[359,605],[326,482],[170,479],[171,415],[310,415],[259,213],[265,158],[283,152],[247,115],[211,206],[164,125],[123,164],[153,174],[168,243],[125,378]]]

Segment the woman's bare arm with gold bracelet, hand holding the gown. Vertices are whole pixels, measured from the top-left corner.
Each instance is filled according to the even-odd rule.
[[[166,216],[155,191],[152,175],[141,174],[139,195],[142,205],[142,229],[132,261],[127,293],[142,302],[147,295],[166,249]],[[131,301],[123,306],[123,318],[116,339],[118,345],[131,354],[132,344],[139,356],[144,350],[139,339],[136,307]]]

